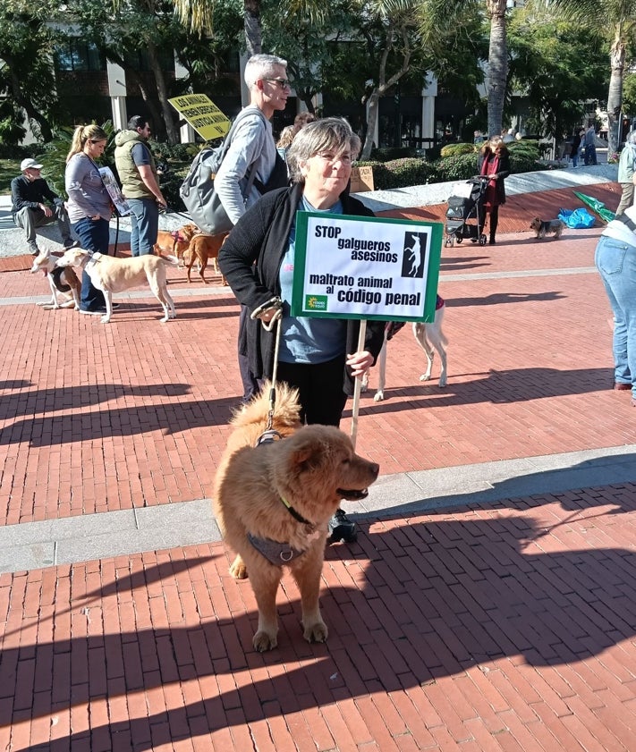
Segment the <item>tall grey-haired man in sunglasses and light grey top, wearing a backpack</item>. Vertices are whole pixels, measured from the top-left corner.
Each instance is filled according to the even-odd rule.
[[[241,111],[241,122],[233,133],[214,182],[218,198],[233,224],[267,190],[287,184],[287,167],[276,152],[269,123],[276,110],[284,110],[290,94],[287,61],[276,55],[252,55],[245,65],[244,78],[250,89],[250,104]],[[251,183],[249,189],[248,183]],[[241,333],[246,316],[246,309],[241,308]],[[239,368],[246,402],[258,393],[259,384],[250,372],[241,334]]]

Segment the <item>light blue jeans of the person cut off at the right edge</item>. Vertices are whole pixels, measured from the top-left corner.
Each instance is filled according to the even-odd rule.
[[[636,398],[636,245],[601,235],[594,263],[614,311],[614,380]]]

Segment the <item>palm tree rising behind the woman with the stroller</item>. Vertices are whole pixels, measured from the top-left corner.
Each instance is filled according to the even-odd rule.
[[[420,30],[427,46],[436,46],[440,30],[448,33],[465,13],[484,13],[490,22],[488,48],[488,133],[500,133],[508,79],[506,0],[422,0]],[[444,34],[441,36],[444,37]]]

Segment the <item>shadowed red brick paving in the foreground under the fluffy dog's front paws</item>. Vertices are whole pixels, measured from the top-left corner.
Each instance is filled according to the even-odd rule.
[[[223,545],[0,579],[0,745],[26,750],[626,750],[634,488],[369,520],[327,551],[326,645],[278,648]]]

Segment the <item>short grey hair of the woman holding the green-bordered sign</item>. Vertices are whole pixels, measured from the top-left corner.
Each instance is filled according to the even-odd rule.
[[[325,117],[308,123],[298,131],[287,152],[292,182],[304,182],[302,165],[321,151],[333,152],[335,156],[349,151],[353,160],[360,154],[360,137],[342,117]]]

